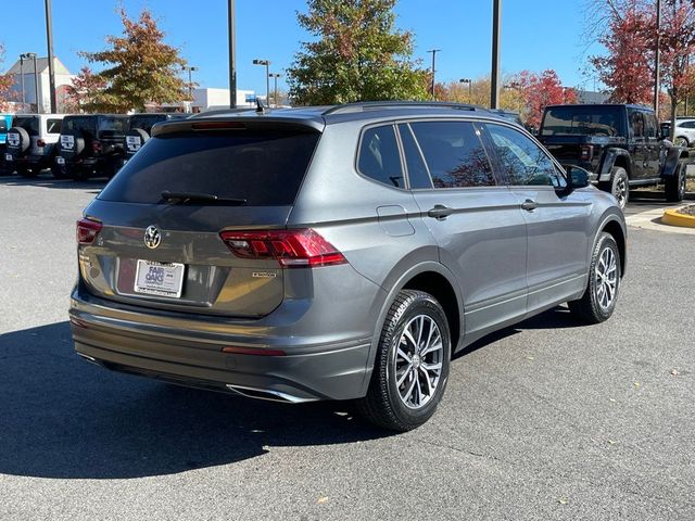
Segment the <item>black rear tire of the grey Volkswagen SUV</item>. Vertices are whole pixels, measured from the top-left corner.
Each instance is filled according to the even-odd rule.
[[[437,351],[429,354],[421,351],[418,352],[417,365],[414,364],[416,356],[415,351],[413,351],[414,354],[409,360],[409,366],[406,364],[407,368],[402,368],[400,374],[403,382],[401,385],[406,393],[406,397],[403,398],[400,391],[401,387],[396,382],[396,377],[399,376],[396,352],[400,353],[404,350],[409,350],[407,342],[401,343],[402,338],[404,339],[404,330],[409,323],[416,322],[413,319],[419,319],[421,316],[429,319],[427,322],[429,327],[428,331],[437,334],[437,330],[439,330],[441,351],[437,348]],[[416,323],[416,327],[419,321]],[[432,323],[437,327],[434,328]],[[420,330],[425,329],[426,328],[421,327]],[[431,338],[435,339],[435,336]],[[428,342],[429,340],[430,336],[428,336]],[[416,343],[420,348],[422,347],[421,343]],[[432,342],[432,344],[435,344],[435,342]],[[401,346],[403,346],[403,348],[400,348]],[[435,358],[426,358],[430,355],[435,356]],[[401,358],[402,361],[405,359],[406,358]],[[425,360],[428,361],[426,363]],[[393,431],[405,432],[421,425],[434,414],[444,394],[448,379],[450,360],[451,334],[446,315],[442,306],[428,293],[413,290],[401,291],[391,305],[381,330],[379,347],[367,395],[356,403],[358,411],[371,423]],[[441,370],[439,378],[437,378],[434,373],[431,373],[432,380],[430,380],[430,373],[427,372],[422,366],[435,366],[440,363]],[[427,387],[424,387],[425,383],[420,383],[420,374],[422,374],[422,378],[428,379],[425,380],[429,382]],[[431,391],[430,383],[434,384]],[[407,390],[405,389],[407,386],[409,386],[413,393],[410,396],[413,396],[414,401],[416,399],[415,396],[420,397],[420,401],[422,401],[421,405],[415,407],[406,405],[404,399],[407,399]],[[422,392],[424,390],[426,393]]]

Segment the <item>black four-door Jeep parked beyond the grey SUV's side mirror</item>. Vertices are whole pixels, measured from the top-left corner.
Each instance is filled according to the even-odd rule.
[[[539,139],[560,163],[593,173],[591,180],[612,193],[620,207],[628,203],[631,188],[659,183],[668,201],[683,200],[688,152],[662,138],[652,109],[546,106]]]

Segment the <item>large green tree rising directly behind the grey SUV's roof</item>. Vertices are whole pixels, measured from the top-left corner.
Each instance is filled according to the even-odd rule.
[[[308,0],[298,13],[315,37],[288,69],[295,104],[425,100],[429,74],[413,61],[413,35],[394,28],[396,0]]]

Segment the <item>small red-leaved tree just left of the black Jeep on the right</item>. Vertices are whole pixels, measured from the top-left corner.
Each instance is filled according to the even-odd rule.
[[[531,127],[538,128],[541,125],[543,110],[547,105],[577,103],[574,89],[563,87],[560,78],[553,69],[543,71],[541,74],[522,71],[510,85],[519,89],[526,99],[526,124]]]

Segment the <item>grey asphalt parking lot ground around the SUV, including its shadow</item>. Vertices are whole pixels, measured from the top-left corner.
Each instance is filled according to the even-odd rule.
[[[102,186],[0,178],[0,519],[695,519],[695,236],[631,228],[609,321],[483,339],[392,435],[78,359],[74,224]]]

